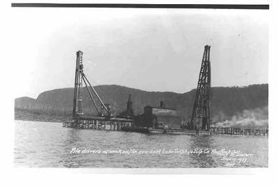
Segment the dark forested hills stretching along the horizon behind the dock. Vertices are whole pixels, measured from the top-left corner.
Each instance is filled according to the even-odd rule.
[[[175,108],[181,117],[188,118],[193,110],[195,91],[184,94],[174,92],[147,92],[120,85],[98,85],[95,87],[104,103],[111,103],[113,115],[125,110],[129,94],[133,101],[136,115],[143,112],[146,105],[159,105],[160,101],[168,108]],[[249,85],[247,87],[213,87],[211,115],[213,121],[230,119],[244,110],[268,106],[268,84]],[[15,99],[15,110],[24,110],[39,115],[72,115],[72,99],[74,89],[64,88],[42,92],[37,99],[20,97]],[[95,98],[95,100],[97,100]],[[98,103],[100,108],[100,103]],[[90,96],[83,88],[83,112],[95,115],[95,108]]]

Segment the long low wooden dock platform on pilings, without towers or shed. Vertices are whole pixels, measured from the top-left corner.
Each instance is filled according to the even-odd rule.
[[[102,117],[84,118],[81,122],[65,122],[65,128],[79,128],[92,130],[112,130],[135,133],[168,134],[168,135],[253,135],[268,136],[268,128],[237,128],[211,127],[210,130],[186,130],[182,128],[154,129],[135,126],[135,120],[124,118],[105,119]]]

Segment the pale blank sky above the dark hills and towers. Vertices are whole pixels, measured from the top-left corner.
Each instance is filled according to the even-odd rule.
[[[19,91],[74,86],[76,51],[93,85],[188,92],[211,45],[212,85],[268,83],[268,10],[13,8]]]

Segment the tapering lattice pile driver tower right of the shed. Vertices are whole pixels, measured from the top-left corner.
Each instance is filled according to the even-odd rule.
[[[197,85],[190,129],[209,130],[211,127],[211,46],[204,47],[204,56]]]

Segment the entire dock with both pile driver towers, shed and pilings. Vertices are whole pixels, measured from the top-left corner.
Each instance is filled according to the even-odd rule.
[[[146,106],[144,115],[134,116],[131,95],[126,104],[126,111],[119,116],[111,115],[111,105],[104,104],[99,94],[88,81],[83,72],[82,51],[76,52],[76,71],[74,81],[74,103],[72,121],[64,122],[65,128],[80,128],[92,130],[113,130],[152,134],[187,134],[187,135],[254,135],[268,136],[268,128],[238,128],[211,126],[211,47],[206,45],[202,66],[199,74],[193,114],[188,125],[181,124],[181,118],[176,116],[176,110],[165,108],[163,101],[160,107]],[[83,83],[95,106],[97,116],[85,116],[82,110]],[[91,92],[92,91],[92,92]],[[96,101],[101,108],[97,108]],[[180,125],[180,126],[179,126]]]

